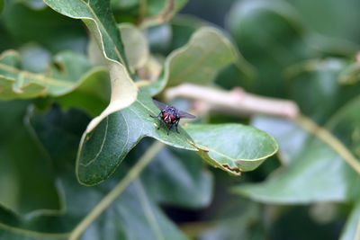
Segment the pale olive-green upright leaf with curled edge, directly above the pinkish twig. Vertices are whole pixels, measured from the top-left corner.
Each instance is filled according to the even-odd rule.
[[[211,84],[219,71],[237,58],[236,49],[220,31],[202,27],[183,48],[175,49],[166,58],[163,75],[143,89],[155,95],[166,84]]]

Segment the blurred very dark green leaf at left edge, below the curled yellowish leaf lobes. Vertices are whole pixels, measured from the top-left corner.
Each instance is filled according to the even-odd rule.
[[[49,156],[23,123],[29,103],[0,102],[0,205],[17,215],[54,215],[63,206]]]

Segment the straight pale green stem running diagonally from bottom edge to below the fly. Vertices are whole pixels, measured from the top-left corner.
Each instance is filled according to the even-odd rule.
[[[71,231],[69,240],[76,240],[81,234],[89,227],[94,220],[103,213],[107,207],[112,204],[112,201],[115,200],[122,191],[124,191],[130,184],[134,181],[139,173],[144,170],[144,168],[150,163],[150,161],[157,155],[157,152],[164,147],[163,143],[156,141],[151,147],[148,147],[148,150],[143,156],[140,157],[139,162],[135,164],[126,174],[126,176],[119,182],[112,191],[110,191],[104,198],[101,200],[95,208],[87,214],[87,216]]]

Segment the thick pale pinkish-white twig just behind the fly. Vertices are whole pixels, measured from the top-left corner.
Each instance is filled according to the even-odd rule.
[[[236,115],[264,113],[294,119],[299,114],[295,102],[247,93],[241,88],[231,91],[195,84],[182,84],[166,90],[168,100],[176,97],[189,98],[210,105],[210,111],[222,111]]]

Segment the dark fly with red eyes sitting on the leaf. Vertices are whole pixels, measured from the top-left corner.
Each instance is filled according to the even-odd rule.
[[[156,100],[153,100],[153,102],[157,105],[157,108],[160,110],[160,113],[158,113],[157,116],[151,116],[151,118],[158,119],[159,125],[157,129],[160,129],[161,125],[164,123],[164,125],[167,128],[167,135],[171,128],[175,125],[176,132],[180,133],[177,129],[177,125],[179,125],[180,119],[194,119],[195,116],[193,116],[190,113],[187,113],[185,111],[180,111],[176,109],[173,106],[168,106],[163,102],[158,102]]]

